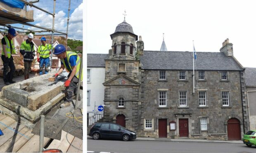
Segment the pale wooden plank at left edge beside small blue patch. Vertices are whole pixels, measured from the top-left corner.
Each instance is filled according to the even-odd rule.
[[[17,127],[17,126],[19,126],[19,127]],[[9,127],[7,127],[4,130],[2,130],[4,135],[1,136],[0,146],[2,144],[4,144],[8,139],[13,137],[17,133],[16,130],[19,132],[24,127],[25,127],[24,125],[19,125],[18,122],[15,121],[11,125],[9,125]]]

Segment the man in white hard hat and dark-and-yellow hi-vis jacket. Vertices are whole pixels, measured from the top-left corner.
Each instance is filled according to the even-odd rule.
[[[34,35],[28,34],[28,39],[21,43],[19,52],[23,55],[24,60],[24,79],[29,79],[29,72],[35,56],[34,43],[32,42]]]

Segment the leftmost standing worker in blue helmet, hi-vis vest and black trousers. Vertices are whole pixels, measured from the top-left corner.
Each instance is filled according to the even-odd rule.
[[[2,38],[2,62],[4,65],[3,78],[5,85],[9,85],[10,83],[15,83],[13,81],[13,74],[15,72],[15,65],[13,62],[13,58],[11,53],[16,53],[15,46],[12,42],[12,38],[17,35],[17,32],[14,28],[9,28],[8,34]],[[10,72],[8,69],[10,67]]]

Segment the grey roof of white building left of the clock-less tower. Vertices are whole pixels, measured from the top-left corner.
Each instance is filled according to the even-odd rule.
[[[109,54],[87,54],[87,67],[105,67],[105,59],[109,58]]]

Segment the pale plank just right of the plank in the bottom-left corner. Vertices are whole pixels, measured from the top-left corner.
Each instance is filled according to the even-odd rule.
[[[24,137],[21,137],[18,141],[14,143],[14,145],[9,146],[6,152],[12,152],[16,153],[26,142],[31,139],[35,134],[31,133],[32,130],[28,130],[25,134]],[[26,136],[26,137],[25,137]],[[39,141],[39,140],[38,140]],[[39,150],[38,150],[39,151]]]

